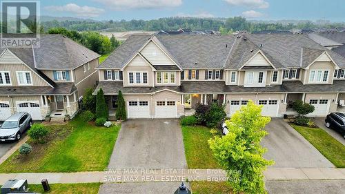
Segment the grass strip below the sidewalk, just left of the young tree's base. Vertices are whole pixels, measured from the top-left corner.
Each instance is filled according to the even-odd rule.
[[[191,182],[191,190],[195,194],[233,193],[228,182]]]

